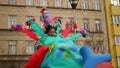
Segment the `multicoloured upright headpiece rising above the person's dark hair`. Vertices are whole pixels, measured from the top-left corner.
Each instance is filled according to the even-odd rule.
[[[40,20],[43,22],[45,31],[51,27],[55,28],[55,30],[58,30],[58,26],[62,24],[60,18],[57,17],[52,18],[50,12],[47,11],[46,8],[42,8],[40,13],[42,14],[42,16],[40,16]]]

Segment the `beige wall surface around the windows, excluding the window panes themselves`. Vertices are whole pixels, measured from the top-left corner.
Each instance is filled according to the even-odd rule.
[[[47,0],[48,6],[47,9],[51,12],[52,16],[62,17],[63,24],[62,28],[65,28],[65,23],[70,19],[74,18],[72,8],[68,7],[68,0],[62,0],[61,7],[55,7],[54,0]],[[107,31],[106,31],[106,21],[105,21],[105,11],[104,11],[104,0],[100,0],[100,10],[93,9],[93,0],[88,0],[88,9],[82,9],[82,0],[79,1],[76,9],[76,23],[78,25],[78,31],[80,28],[84,28],[84,18],[89,19],[89,32],[90,34],[86,38],[79,38],[76,42],[79,45],[85,45],[85,41],[91,41],[91,46],[97,48],[95,45],[97,41],[103,41],[104,52],[108,52],[108,40],[107,40]],[[25,34],[20,31],[12,31],[10,32],[10,28],[8,27],[8,16],[15,15],[16,23],[25,24],[27,16],[33,16],[36,18],[36,22],[40,24],[40,10],[42,6],[40,6],[39,0],[34,0],[33,6],[26,6],[26,0],[16,0],[16,5],[12,6],[8,4],[8,0],[0,0],[0,60],[4,61],[15,61],[18,62],[22,60],[22,66],[27,62],[30,55],[26,53],[26,40],[32,40]],[[101,32],[96,32],[95,27],[95,19],[101,20]],[[25,25],[24,25],[25,26]],[[92,37],[93,36],[93,37]],[[16,55],[8,55],[8,41],[16,40]],[[11,59],[11,60],[10,60]],[[2,63],[2,62],[0,62]],[[2,65],[4,64],[2,63]],[[20,63],[19,63],[20,65]],[[9,66],[9,65],[8,65]],[[23,68],[23,67],[21,67]]]

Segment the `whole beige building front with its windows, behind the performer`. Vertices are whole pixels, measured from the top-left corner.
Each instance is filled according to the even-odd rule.
[[[63,20],[62,29],[69,19],[74,18],[69,0],[0,0],[0,68],[23,68],[34,53],[34,40],[20,31],[10,31],[10,25],[25,26],[28,18],[35,17],[42,26],[39,17],[43,6],[53,17]],[[76,43],[90,45],[99,52],[109,52],[104,0],[79,0],[75,13],[77,30],[83,28],[90,32]]]

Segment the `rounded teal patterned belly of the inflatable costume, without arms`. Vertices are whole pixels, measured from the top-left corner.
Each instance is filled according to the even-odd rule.
[[[47,36],[44,40],[46,40],[45,45],[54,44],[54,47],[47,52],[40,68],[83,68],[82,56],[79,53],[82,46],[60,36]]]

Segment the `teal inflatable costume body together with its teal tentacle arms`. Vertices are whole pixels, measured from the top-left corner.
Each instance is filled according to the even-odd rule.
[[[34,31],[42,36],[41,40],[38,40],[35,45],[35,51],[40,44],[49,46],[49,52],[47,52],[40,68],[83,68],[83,58],[79,53],[82,46],[73,43],[82,34],[78,33],[73,37],[64,38],[56,33],[56,37],[45,36],[42,28],[37,23],[32,23],[31,27]]]

